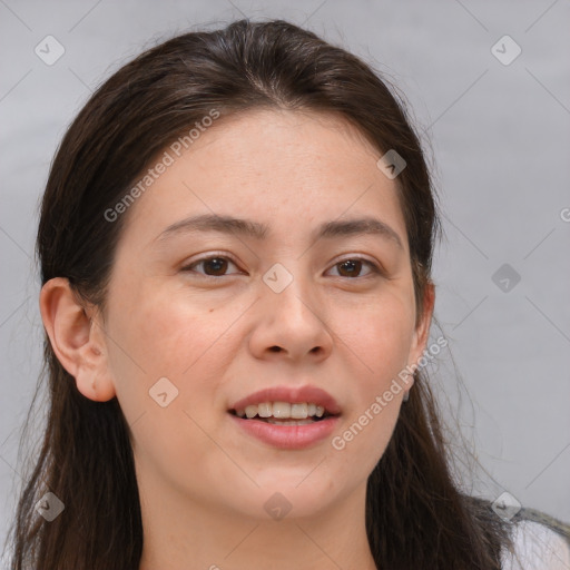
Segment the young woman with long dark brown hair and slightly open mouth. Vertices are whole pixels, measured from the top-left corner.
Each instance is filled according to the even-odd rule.
[[[238,21],[117,71],[43,196],[13,568],[510,564],[423,371],[438,232],[402,105],[313,33]]]

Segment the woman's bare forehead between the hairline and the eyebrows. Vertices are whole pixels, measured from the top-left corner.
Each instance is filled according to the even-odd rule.
[[[255,218],[277,239],[323,222],[376,214],[405,240],[380,151],[340,116],[253,110],[217,119],[131,206],[127,232],[149,244],[196,214]],[[170,161],[170,160],[169,160]],[[153,168],[153,165],[149,165]]]

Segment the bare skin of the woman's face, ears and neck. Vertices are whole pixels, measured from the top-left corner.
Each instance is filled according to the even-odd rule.
[[[43,286],[58,358],[85,396],[117,396],[130,425],[140,570],[375,568],[365,485],[403,392],[342,451],[330,438],[307,450],[272,448],[227,410],[263,387],[313,384],[340,403],[338,435],[422,355],[433,287],[416,315],[396,180],[377,168],[380,156],[332,115],[218,119],[124,214],[105,314],[81,306],[63,278]],[[212,213],[265,223],[271,235],[157,239]],[[311,239],[323,222],[363,216],[390,225],[402,247],[379,235]],[[225,274],[204,263],[183,269],[215,254],[233,257]],[[363,264],[352,276],[341,262],[354,257],[385,274]],[[278,294],[262,279],[275,263],[293,275]],[[149,397],[164,376],[178,390],[166,407]],[[264,509],[276,492],[292,505],[279,521]]]

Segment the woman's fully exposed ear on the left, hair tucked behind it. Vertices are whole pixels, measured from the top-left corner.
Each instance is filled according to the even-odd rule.
[[[76,379],[77,390],[97,402],[111,400],[116,392],[97,311],[83,307],[67,278],[55,277],[41,288],[40,313],[53,352]]]

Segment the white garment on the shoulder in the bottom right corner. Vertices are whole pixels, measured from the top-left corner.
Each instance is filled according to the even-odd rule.
[[[514,556],[503,551],[504,570],[570,570],[568,542],[544,524],[520,521],[513,528]]]

